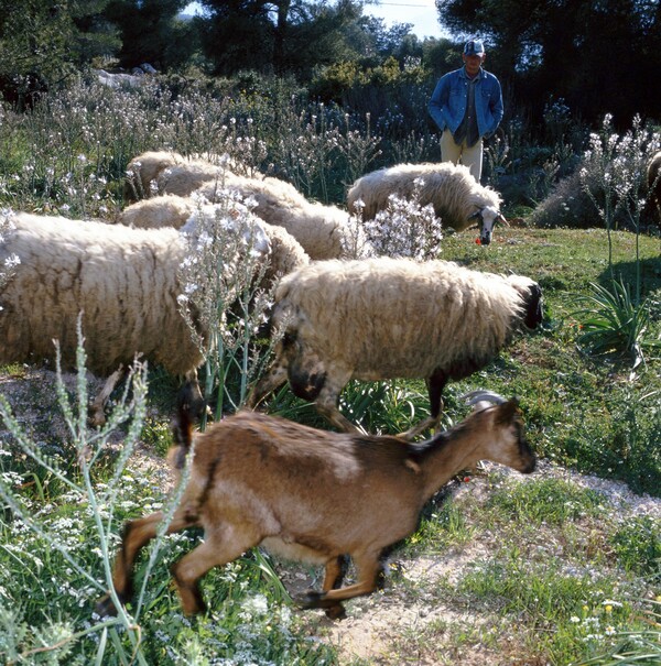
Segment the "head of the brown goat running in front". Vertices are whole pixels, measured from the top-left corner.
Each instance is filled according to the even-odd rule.
[[[537,458],[525,441],[519,401],[483,390],[463,397],[474,405],[474,427],[486,436],[481,445],[484,458],[524,474],[534,471]]]

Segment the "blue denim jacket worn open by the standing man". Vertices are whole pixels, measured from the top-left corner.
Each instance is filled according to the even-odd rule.
[[[477,130],[480,137],[490,137],[502,120],[502,92],[500,83],[488,72],[480,68],[475,84],[475,112]],[[429,112],[441,131],[448,128],[454,134],[466,112],[468,97],[468,77],[464,67],[448,72],[436,84],[430,99]]]

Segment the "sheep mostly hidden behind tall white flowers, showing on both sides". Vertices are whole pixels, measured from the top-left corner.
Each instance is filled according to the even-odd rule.
[[[199,201],[189,197],[161,195],[127,206],[118,222],[136,229],[181,229],[199,206]],[[310,256],[284,228],[263,223],[262,230],[270,243],[269,265],[262,286],[269,288],[282,275],[307,265]]]

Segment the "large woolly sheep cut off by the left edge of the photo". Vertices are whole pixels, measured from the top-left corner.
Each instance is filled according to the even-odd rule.
[[[63,368],[75,368],[82,312],[88,370],[113,373],[95,401],[97,424],[118,368],[138,353],[194,378],[203,358],[177,303],[187,250],[182,233],[28,212],[10,219],[14,229],[0,243],[0,264],[8,256],[20,263],[0,290],[0,364],[53,359],[57,340]],[[256,229],[254,247],[267,254],[268,240]]]

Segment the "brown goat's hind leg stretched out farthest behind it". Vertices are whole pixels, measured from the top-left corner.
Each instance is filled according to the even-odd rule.
[[[143,518],[127,523],[121,542],[121,548],[115,560],[115,570],[112,571],[112,587],[115,588],[119,600],[122,603],[129,601],[133,596],[133,563],[140,550],[156,536],[159,523],[163,520],[163,513],[156,511]],[[175,512],[170,525],[167,534],[180,532],[189,525],[195,524],[195,520],[191,518],[184,512]],[[115,615],[117,609],[110,598],[106,594],[96,605],[98,615]]]

